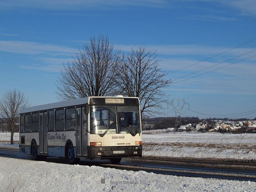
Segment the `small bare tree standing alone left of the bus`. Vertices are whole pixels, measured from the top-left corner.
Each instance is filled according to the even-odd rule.
[[[0,116],[7,119],[11,125],[11,144],[13,144],[14,123],[19,118],[21,108],[29,107],[28,98],[20,90],[13,89],[5,92],[0,100]]]

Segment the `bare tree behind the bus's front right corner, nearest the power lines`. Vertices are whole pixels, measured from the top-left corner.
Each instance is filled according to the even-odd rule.
[[[120,94],[139,97],[143,118],[161,114],[162,103],[167,101],[163,88],[172,82],[171,79],[165,79],[169,72],[159,68],[156,56],[156,51],[146,51],[146,47],[132,49],[124,57],[117,78]]]

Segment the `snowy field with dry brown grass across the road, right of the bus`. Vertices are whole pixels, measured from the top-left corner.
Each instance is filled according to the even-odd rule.
[[[160,132],[143,132],[143,155],[256,159],[256,134]]]

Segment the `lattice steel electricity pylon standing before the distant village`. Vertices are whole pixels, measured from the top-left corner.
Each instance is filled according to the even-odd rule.
[[[175,102],[175,101],[177,101],[177,102]],[[181,101],[181,104],[180,104],[180,101]],[[178,103],[178,105],[176,105],[177,103]],[[174,109],[175,116],[176,116],[175,129],[177,130],[181,126],[180,114],[185,105],[188,105],[188,108],[189,108],[189,103],[186,103],[184,99],[172,99],[171,104],[172,104],[172,107]]]

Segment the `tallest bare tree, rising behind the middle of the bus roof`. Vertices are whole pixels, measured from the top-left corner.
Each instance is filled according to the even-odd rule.
[[[83,50],[76,52],[72,64],[63,64],[61,77],[55,84],[57,98],[70,100],[88,96],[115,94],[116,67],[120,63],[120,50],[114,51],[108,37],[90,38]]]

